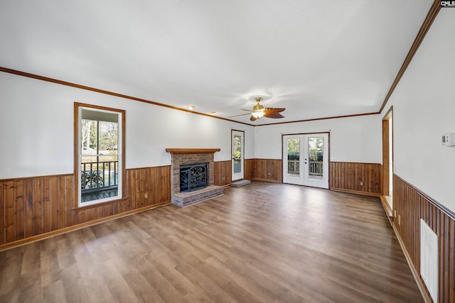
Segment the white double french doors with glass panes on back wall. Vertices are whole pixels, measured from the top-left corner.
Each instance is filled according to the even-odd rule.
[[[328,133],[283,136],[283,183],[328,188]]]

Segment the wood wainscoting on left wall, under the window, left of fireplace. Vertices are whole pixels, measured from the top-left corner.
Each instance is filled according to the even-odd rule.
[[[128,169],[126,199],[74,209],[73,175],[0,180],[0,249],[15,241],[168,204],[170,188],[170,166]]]

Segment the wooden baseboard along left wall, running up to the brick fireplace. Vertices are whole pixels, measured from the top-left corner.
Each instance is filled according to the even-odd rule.
[[[73,225],[73,226],[68,226],[68,227],[65,227],[65,228],[60,228],[60,229],[58,229],[56,231],[49,231],[48,233],[41,233],[41,234],[36,235],[36,236],[31,236],[31,237],[24,238],[24,239],[21,239],[21,240],[18,240],[18,241],[14,241],[14,242],[3,244],[3,245],[0,246],[0,251],[11,249],[11,248],[15,248],[15,247],[18,247],[18,246],[23,246],[23,245],[26,245],[28,243],[41,241],[41,240],[43,240],[45,238],[50,238],[50,237],[57,236],[57,235],[60,235],[60,234],[63,234],[63,233],[69,233],[70,231],[77,231],[78,229],[82,229],[82,228],[89,227],[89,226],[94,226],[94,225],[101,224],[101,223],[104,223],[104,222],[107,222],[107,221],[111,221],[111,220],[114,220],[114,219],[122,218],[124,216],[137,214],[137,213],[140,213],[142,211],[147,211],[149,209],[156,209],[157,207],[165,206],[165,205],[168,205],[168,204],[171,204],[171,202],[170,201],[166,201],[166,202],[162,202],[162,203],[159,203],[159,204],[154,204],[152,206],[150,206],[150,205],[149,206],[144,206],[144,207],[141,207],[139,209],[133,209],[131,211],[124,211],[122,213],[114,214],[112,216],[107,216],[105,218],[96,219],[96,220],[93,220],[93,221],[88,221],[88,222],[85,222],[85,223],[81,223],[81,224],[77,224],[77,225]]]

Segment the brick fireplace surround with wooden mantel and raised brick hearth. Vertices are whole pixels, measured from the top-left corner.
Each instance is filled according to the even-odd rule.
[[[166,148],[171,153],[171,202],[188,206],[223,194],[223,187],[214,185],[213,156],[220,148]],[[181,166],[207,163],[207,186],[193,192],[181,192]]]

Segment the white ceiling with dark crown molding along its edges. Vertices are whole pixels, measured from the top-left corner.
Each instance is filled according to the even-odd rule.
[[[0,0],[0,66],[260,125],[377,112],[431,0]]]

